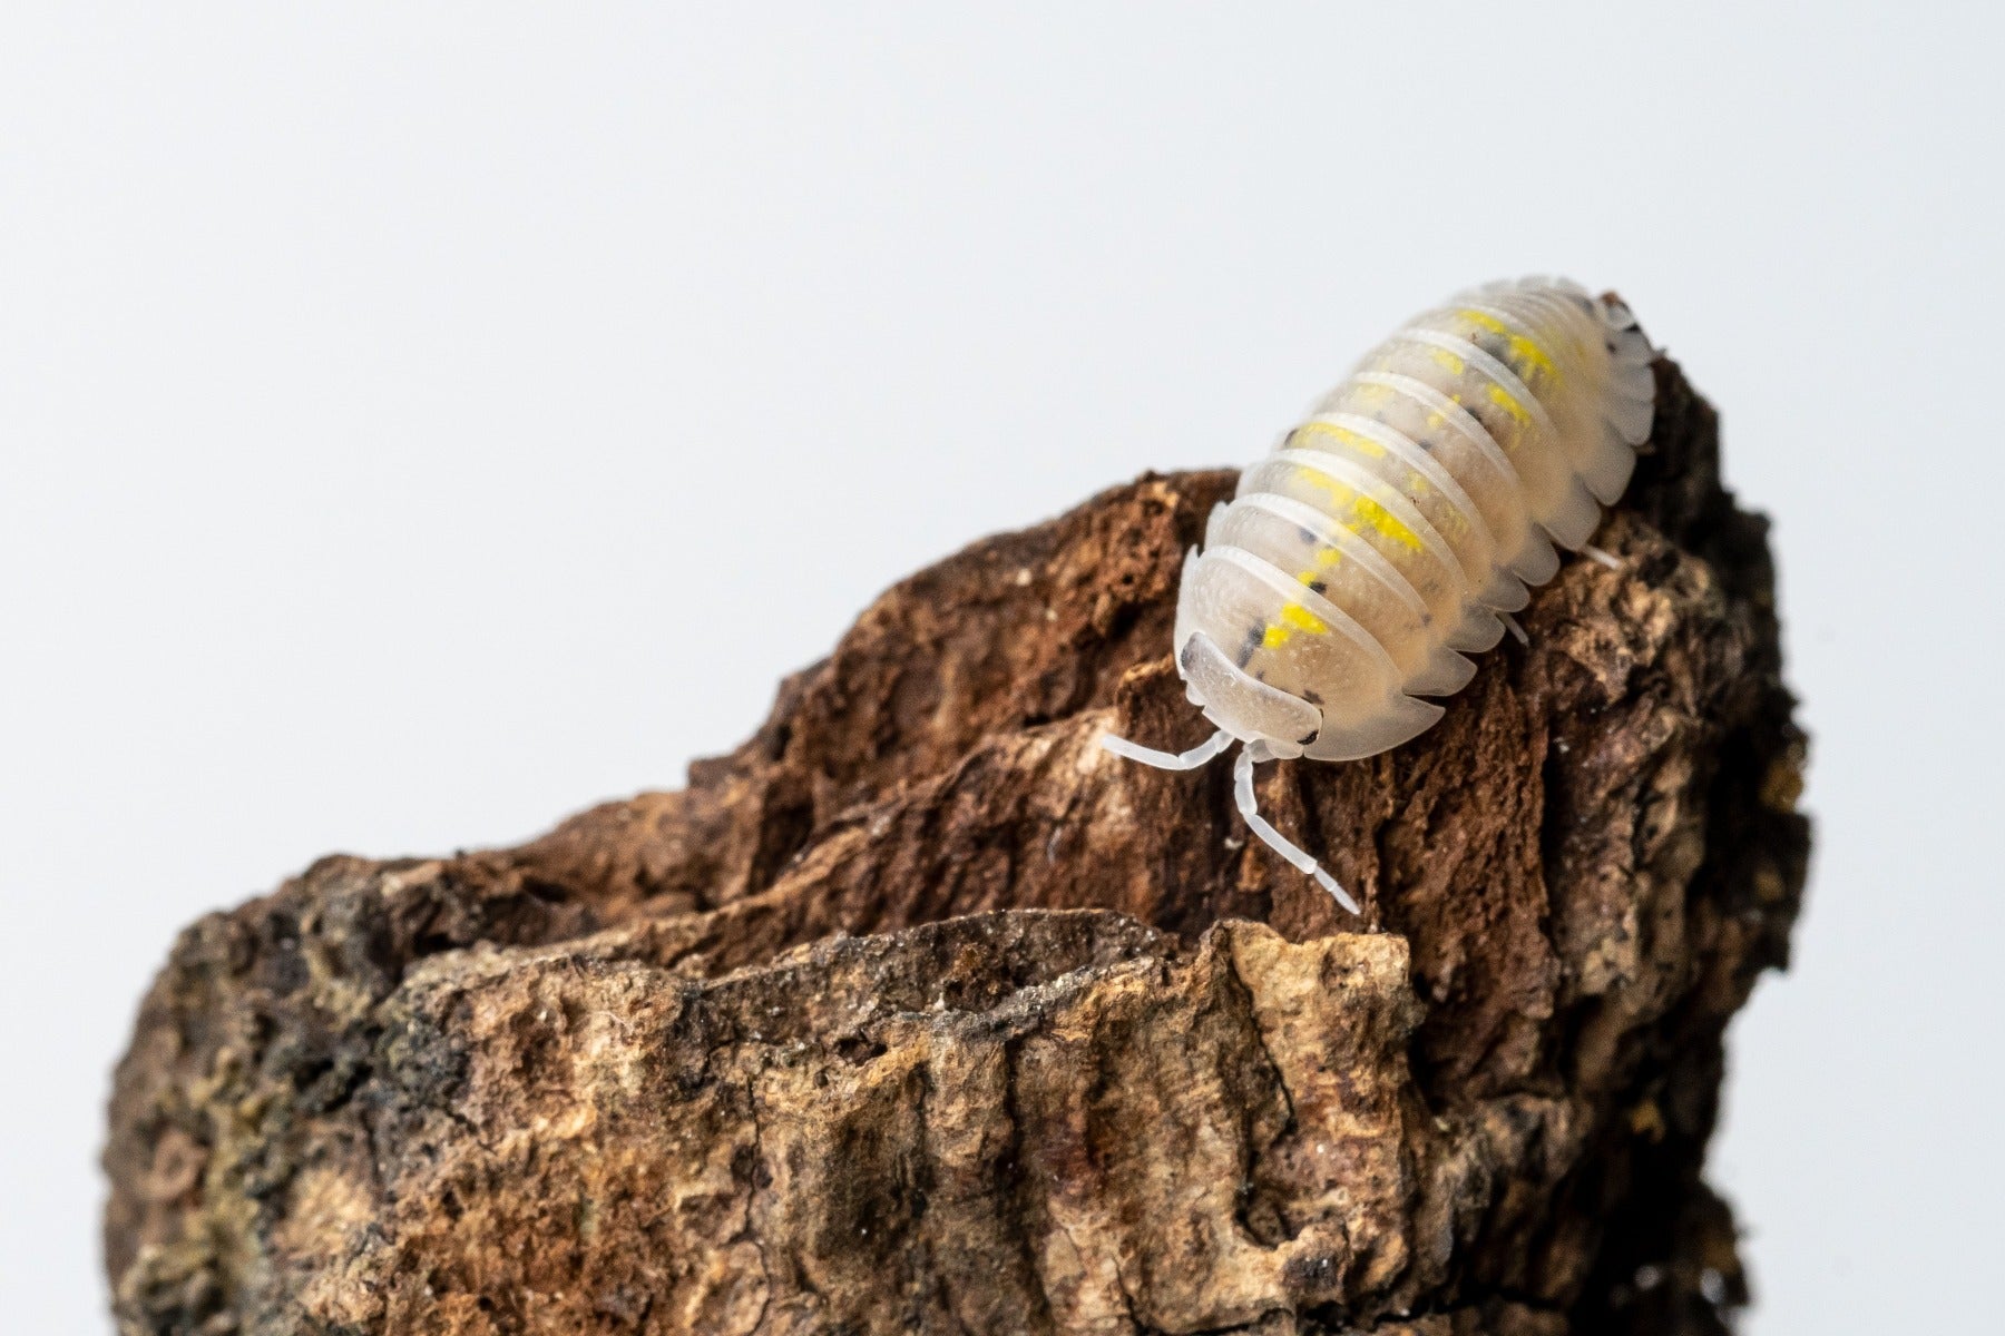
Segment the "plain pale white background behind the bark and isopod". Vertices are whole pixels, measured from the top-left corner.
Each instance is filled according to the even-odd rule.
[[[6,6],[6,1330],[106,1330],[178,925],[678,785],[902,573],[1542,270],[1776,519],[1819,853],[1714,1154],[1750,1326],[1993,1318],[1999,10],[820,8]]]

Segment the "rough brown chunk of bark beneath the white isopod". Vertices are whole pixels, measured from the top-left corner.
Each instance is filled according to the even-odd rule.
[[[1189,745],[1147,477],[870,607],[690,787],[329,857],[188,927],[118,1068],[126,1332],[1722,1330],[1720,1036],[1802,887],[1758,517],[1658,433],[1530,647],[1395,753]]]

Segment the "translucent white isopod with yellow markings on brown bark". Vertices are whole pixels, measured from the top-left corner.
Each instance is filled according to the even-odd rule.
[[[1347,909],[1335,877],[1253,803],[1253,767],[1351,761],[1442,717],[1416,697],[1476,673],[1512,613],[1588,547],[1650,435],[1654,353],[1614,298],[1564,278],[1492,282],[1375,347],[1275,451],[1247,469],[1183,563],[1175,651],[1185,695],[1217,725],[1195,769],[1243,743],[1247,825]],[[1522,631],[1520,631],[1522,635]]]

